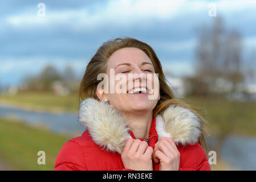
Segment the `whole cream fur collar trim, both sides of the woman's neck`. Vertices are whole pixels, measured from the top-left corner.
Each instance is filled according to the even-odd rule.
[[[124,117],[112,105],[87,98],[79,107],[78,121],[86,127],[96,144],[105,150],[123,151],[125,140],[131,138]],[[192,111],[169,106],[156,115],[156,131],[160,137],[172,137],[176,144],[194,144],[201,135],[200,119]]]

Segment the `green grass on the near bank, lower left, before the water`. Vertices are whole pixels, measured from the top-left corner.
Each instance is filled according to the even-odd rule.
[[[14,170],[53,170],[60,148],[71,138],[0,119],[0,157]],[[45,152],[45,165],[37,163],[38,151]]]

